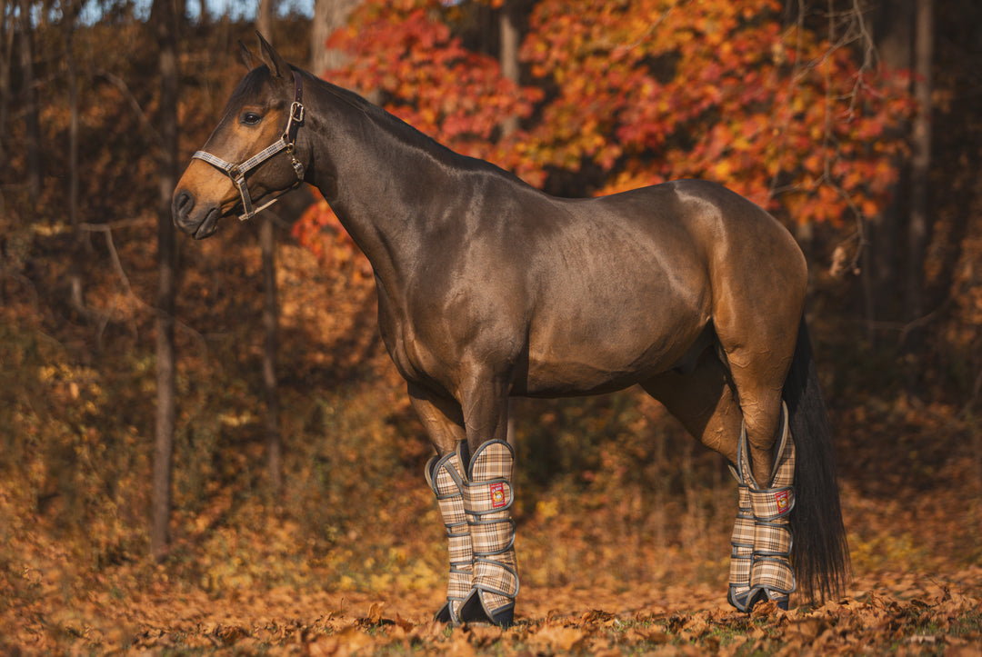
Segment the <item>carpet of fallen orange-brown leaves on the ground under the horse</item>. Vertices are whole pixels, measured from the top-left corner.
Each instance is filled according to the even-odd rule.
[[[337,599],[323,592],[272,591],[238,600],[208,600],[174,591],[152,601],[140,600],[139,604],[107,604],[90,610],[104,615],[99,623],[105,624],[105,630],[91,625],[84,613],[79,614],[75,620],[52,627],[50,636],[35,635],[30,647],[44,652],[136,649],[322,657],[417,653],[466,657],[835,655],[890,653],[899,647],[900,653],[977,655],[973,646],[982,638],[978,625],[982,601],[947,589],[938,595],[913,598],[869,592],[791,612],[765,603],[749,617],[724,608],[671,614],[600,609],[578,612],[561,593],[552,591],[550,597],[570,611],[519,616],[515,628],[501,630],[472,626],[451,629],[432,623],[413,609],[422,599],[411,594],[393,594],[383,602],[377,595],[355,593],[343,601],[345,609],[325,612]],[[629,597],[626,594],[624,599]],[[407,618],[396,608],[412,612]],[[112,623],[116,626],[111,628]]]

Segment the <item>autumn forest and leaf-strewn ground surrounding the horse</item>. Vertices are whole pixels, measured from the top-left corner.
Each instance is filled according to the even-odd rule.
[[[977,642],[977,3],[0,6],[0,649]],[[431,448],[370,267],[309,191],[207,242],[171,228],[256,27],[548,192],[705,178],[785,222],[837,427],[846,599],[721,611],[735,485],[626,391],[515,401],[524,625],[431,629]]]

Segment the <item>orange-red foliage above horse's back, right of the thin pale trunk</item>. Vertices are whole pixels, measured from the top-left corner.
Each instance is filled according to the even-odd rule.
[[[551,164],[593,158],[612,174],[601,192],[623,189],[614,182],[623,180],[614,171],[626,164],[622,154],[653,176],[715,179],[769,200],[771,209],[783,205],[780,190],[796,190],[809,196],[791,203],[808,212],[801,221],[837,221],[849,207],[876,211],[887,179],[870,177],[879,163],[867,156],[881,159],[883,151],[866,144],[895,148],[884,128],[905,107],[873,106],[877,81],[862,80],[846,50],[810,33],[782,32],[775,3],[628,4],[631,15],[648,17],[646,31],[617,23],[595,3],[536,6],[523,54],[533,71],[560,84],[553,105],[603,108],[606,118],[592,124],[597,134],[578,137],[541,126],[537,135],[564,141],[555,148],[564,157]],[[597,80],[603,66],[611,71],[600,78],[606,86],[573,82]],[[543,116],[550,123],[553,115],[547,109]],[[607,155],[604,141],[617,143],[617,157]],[[846,175],[830,177],[830,162]]]

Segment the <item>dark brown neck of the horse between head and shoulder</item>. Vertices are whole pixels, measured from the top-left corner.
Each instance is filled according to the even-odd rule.
[[[318,88],[322,106],[312,108],[319,118],[315,184],[376,275],[394,290],[423,246],[431,194],[452,189],[442,183],[456,170],[447,158],[456,156],[345,94],[337,87]]]

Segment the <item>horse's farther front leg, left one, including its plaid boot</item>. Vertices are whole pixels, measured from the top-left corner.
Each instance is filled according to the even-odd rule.
[[[426,464],[425,476],[436,496],[450,553],[447,601],[434,620],[460,625],[461,606],[470,593],[473,575],[470,527],[464,511],[464,465],[458,454],[458,445],[466,440],[464,415],[453,400],[434,397],[413,385],[409,385],[409,399],[437,451]]]

